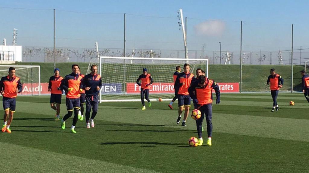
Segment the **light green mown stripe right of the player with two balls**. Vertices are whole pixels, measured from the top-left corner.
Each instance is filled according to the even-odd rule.
[[[215,132],[309,142],[309,120],[215,114]]]

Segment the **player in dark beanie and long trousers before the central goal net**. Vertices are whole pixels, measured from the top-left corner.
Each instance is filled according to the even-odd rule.
[[[139,81],[142,81],[142,83],[139,83]],[[144,101],[144,96],[145,99],[148,101],[148,107],[151,107],[151,103],[149,100],[149,89],[150,89],[150,85],[153,83],[153,79],[151,78],[151,75],[149,73],[147,73],[147,69],[143,68],[143,74],[141,74],[136,83],[141,86],[141,100],[142,100],[142,110],[145,110],[145,101]]]

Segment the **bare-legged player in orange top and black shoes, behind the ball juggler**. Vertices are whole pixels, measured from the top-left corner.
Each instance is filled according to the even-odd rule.
[[[186,125],[186,120],[189,115],[189,109],[191,104],[191,98],[189,96],[188,88],[191,84],[192,78],[194,77],[193,74],[190,73],[190,65],[185,63],[184,64],[184,72],[180,73],[175,81],[175,87],[179,88],[178,90],[178,118],[176,120],[176,123],[180,123],[181,114],[184,110],[184,120],[182,122],[182,126]]]

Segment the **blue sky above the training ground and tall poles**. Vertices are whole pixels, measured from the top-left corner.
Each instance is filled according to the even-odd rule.
[[[219,42],[222,50],[239,50],[241,20],[245,51],[290,49],[291,24],[294,48],[304,49],[309,48],[308,5],[309,1],[301,0],[2,0],[0,38],[10,45],[17,28],[18,45],[53,46],[52,9],[56,9],[57,46],[92,48],[98,41],[100,48],[122,48],[126,13],[128,49],[182,50],[177,24],[177,10],[182,8],[188,18],[189,50],[219,50]]]

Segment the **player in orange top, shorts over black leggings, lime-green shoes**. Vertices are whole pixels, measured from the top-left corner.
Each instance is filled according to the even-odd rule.
[[[76,133],[74,130],[77,120],[78,120],[78,111],[80,110],[80,90],[83,87],[82,85],[83,78],[78,74],[78,65],[72,65],[72,73],[66,75],[66,77],[61,82],[61,89],[66,91],[66,109],[68,113],[61,119],[61,128],[64,130],[66,128],[66,120],[73,115],[74,118],[71,127],[71,132]]]

